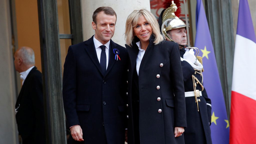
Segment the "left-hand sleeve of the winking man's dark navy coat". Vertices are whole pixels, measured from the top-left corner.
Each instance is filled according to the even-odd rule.
[[[69,46],[68,54],[64,63],[62,87],[63,105],[68,127],[80,125],[76,111],[76,65],[77,64],[73,47]]]

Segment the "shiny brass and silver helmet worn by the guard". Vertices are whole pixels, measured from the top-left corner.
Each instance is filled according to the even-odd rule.
[[[168,7],[164,11],[162,16],[162,23],[163,23],[161,27],[162,34],[166,38],[166,40],[173,41],[173,42],[175,41],[172,38],[170,38],[170,36],[167,34],[167,31],[176,29],[176,28],[186,27],[186,24],[174,14],[176,10],[177,10],[177,6],[172,1],[172,4],[170,5],[170,7]]]

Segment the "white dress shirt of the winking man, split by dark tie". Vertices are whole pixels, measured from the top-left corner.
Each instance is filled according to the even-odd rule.
[[[100,55],[101,55],[101,48],[100,46],[103,45],[101,42],[99,42],[99,40],[97,40],[95,38],[95,35],[93,36],[93,42],[94,42],[94,46],[96,48],[96,53],[97,53],[97,57],[99,59],[99,62],[100,62]],[[108,68],[108,63],[109,63],[109,44],[110,44],[110,40],[104,45],[106,46],[106,62],[107,62],[107,65],[106,65],[106,69]]]

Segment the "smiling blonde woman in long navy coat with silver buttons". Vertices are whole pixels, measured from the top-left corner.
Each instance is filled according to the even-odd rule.
[[[154,15],[133,11],[126,20],[128,143],[184,143],[184,83],[178,44],[163,40]]]

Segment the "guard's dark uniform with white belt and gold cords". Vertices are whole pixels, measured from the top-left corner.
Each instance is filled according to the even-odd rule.
[[[180,49],[180,57],[183,58],[185,53],[184,48]],[[197,83],[196,89],[201,91],[201,96],[198,99],[198,109],[195,102],[195,96],[193,94],[193,79],[194,75],[200,83],[202,83],[202,76],[187,62],[182,61],[182,71],[185,89],[185,99],[186,99],[186,116],[187,116],[187,128],[184,132],[184,139],[186,144],[211,144],[211,100],[208,98],[206,90],[202,90],[202,87]],[[195,82],[197,82],[195,80]],[[191,92],[189,94],[189,91]],[[190,97],[189,97],[190,95]]]

